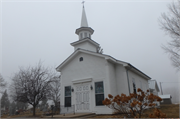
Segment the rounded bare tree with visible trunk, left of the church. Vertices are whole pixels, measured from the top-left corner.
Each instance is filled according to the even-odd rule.
[[[32,105],[33,116],[35,116],[36,106],[49,94],[53,77],[54,73],[44,68],[42,63],[36,67],[20,68],[12,78],[12,97],[15,101]]]

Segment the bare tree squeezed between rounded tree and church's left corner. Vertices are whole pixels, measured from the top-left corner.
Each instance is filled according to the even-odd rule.
[[[53,78],[53,82],[51,82],[51,90],[50,90],[50,95],[49,95],[49,99],[53,100],[55,107],[59,108],[59,103],[60,103],[60,76],[59,77],[54,77]]]

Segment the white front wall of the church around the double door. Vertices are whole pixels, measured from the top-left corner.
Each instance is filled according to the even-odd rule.
[[[83,61],[79,58],[83,57]],[[111,114],[112,110],[106,106],[96,106],[95,104],[95,82],[103,81],[104,97],[109,94],[109,82],[107,80],[107,62],[104,58],[79,53],[61,70],[61,105],[64,105],[64,88],[71,86],[75,89],[72,80],[92,78],[92,82],[88,82],[93,86],[90,90],[90,110],[97,114]],[[71,93],[72,105],[76,103],[75,91]]]

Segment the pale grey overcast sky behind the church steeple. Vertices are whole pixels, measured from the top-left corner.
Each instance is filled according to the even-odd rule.
[[[1,0],[0,56],[3,77],[10,81],[19,67],[39,60],[56,68],[74,48],[75,30],[80,27],[81,0]],[[104,54],[133,66],[163,83],[176,87],[178,72],[161,46],[171,38],[160,30],[158,18],[168,12],[171,0],[86,0],[92,39]],[[169,85],[171,84],[171,85]]]

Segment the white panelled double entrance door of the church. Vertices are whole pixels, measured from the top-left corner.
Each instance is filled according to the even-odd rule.
[[[90,86],[88,84],[76,85],[76,112],[90,111]]]

